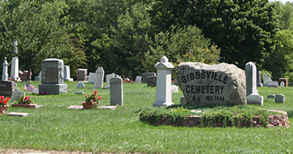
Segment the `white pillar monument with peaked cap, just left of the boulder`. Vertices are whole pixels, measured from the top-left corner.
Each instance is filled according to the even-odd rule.
[[[157,72],[157,87],[156,101],[152,104],[153,107],[169,106],[172,103],[171,93],[171,69],[174,68],[168,58],[164,56],[160,62],[157,62],[155,68]]]

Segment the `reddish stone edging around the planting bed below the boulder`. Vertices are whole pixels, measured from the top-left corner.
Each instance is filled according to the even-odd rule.
[[[268,111],[281,113],[284,116],[283,115],[269,116],[270,121],[267,121],[268,125],[266,125],[265,127],[275,127],[275,126],[278,126],[278,127],[281,127],[281,126],[290,127],[287,112],[285,112],[285,111],[277,111],[277,110],[268,110]],[[186,117],[187,118],[184,119],[182,121],[182,123],[177,122],[177,123],[174,123],[172,125],[184,126],[184,127],[198,127],[200,125],[201,116],[186,116]],[[160,123],[158,123],[158,125],[159,126],[160,125],[169,125],[170,124],[169,118],[170,117],[167,116],[166,118],[161,119]],[[239,122],[239,123],[240,123],[240,127],[250,127],[251,126],[250,123],[247,123],[247,122]],[[204,125],[206,126],[206,122],[204,122]],[[227,126],[231,126],[231,122],[228,122]],[[223,127],[223,123],[217,122],[216,127]],[[262,127],[262,123],[260,122],[259,116],[253,116],[252,117],[252,127]]]

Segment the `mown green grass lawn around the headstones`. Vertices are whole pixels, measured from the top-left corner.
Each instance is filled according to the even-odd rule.
[[[124,106],[115,110],[66,109],[70,105],[81,105],[84,95],[73,95],[83,91],[90,94],[93,84],[76,89],[77,82],[65,81],[67,94],[26,96],[41,108],[25,109],[8,107],[9,112],[24,112],[30,116],[0,116],[1,148],[27,148],[42,150],[93,151],[115,153],[180,153],[180,154],[292,154],[293,129],[275,128],[187,128],[152,126],[139,121],[137,111],[152,106],[156,88],[145,83],[124,83]],[[24,83],[17,88],[23,90]],[[41,82],[31,82],[35,87]],[[105,83],[104,83],[105,87]],[[101,105],[110,105],[109,89],[97,89],[102,96]],[[286,111],[293,122],[293,87],[258,88],[264,96],[264,109]],[[285,104],[274,103],[266,98],[270,94],[285,95]],[[180,104],[183,93],[172,94],[172,102]],[[8,103],[10,104],[10,103]],[[292,125],[292,124],[291,124]]]

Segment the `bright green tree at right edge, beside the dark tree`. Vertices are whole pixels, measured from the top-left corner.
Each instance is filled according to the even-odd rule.
[[[284,77],[293,69],[293,31],[280,30],[274,36],[275,49],[265,59],[263,68],[272,72],[272,79]]]

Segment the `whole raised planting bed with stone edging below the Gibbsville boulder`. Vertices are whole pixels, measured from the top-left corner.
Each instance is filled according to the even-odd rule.
[[[153,125],[184,127],[289,127],[284,111],[263,110],[251,106],[173,105],[167,108],[146,108],[140,120]]]

